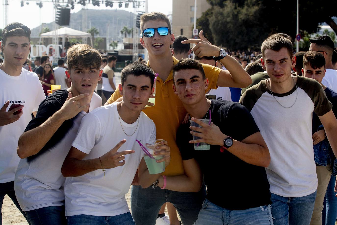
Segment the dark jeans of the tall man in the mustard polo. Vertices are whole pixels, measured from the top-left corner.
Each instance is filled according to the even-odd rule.
[[[159,187],[143,189],[132,186],[131,212],[137,225],[155,225],[160,207],[165,202],[172,203],[184,225],[192,225],[206,196],[205,185],[199,192],[178,192],[161,189]]]

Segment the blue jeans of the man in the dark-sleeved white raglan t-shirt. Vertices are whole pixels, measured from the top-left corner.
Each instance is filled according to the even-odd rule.
[[[317,190],[303,197],[289,198],[270,193],[272,215],[275,225],[308,225],[316,199]]]

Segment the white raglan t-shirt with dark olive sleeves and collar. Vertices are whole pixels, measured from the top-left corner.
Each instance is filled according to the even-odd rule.
[[[332,108],[321,85],[297,76],[294,87],[284,94],[269,91],[267,80],[248,88],[240,103],[252,114],[266,141],[270,164],[266,168],[270,192],[284,197],[302,197],[317,189],[312,141],[312,113],[322,116]],[[298,95],[296,97],[296,95]]]

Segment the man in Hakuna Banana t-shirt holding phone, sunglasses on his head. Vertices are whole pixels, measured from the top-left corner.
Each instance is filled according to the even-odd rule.
[[[31,114],[36,115],[45,99],[39,78],[22,67],[30,53],[30,33],[23,24],[10,23],[3,29],[0,41],[4,55],[0,65],[0,101],[3,104],[0,109],[0,207],[8,194],[21,213],[14,192],[14,176],[20,161],[16,153],[18,140],[32,119]]]

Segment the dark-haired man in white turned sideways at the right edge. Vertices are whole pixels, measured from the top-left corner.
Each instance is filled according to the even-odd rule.
[[[332,91],[337,92],[337,71],[332,65],[332,54],[335,44],[329,36],[319,36],[310,38],[309,50],[320,52],[325,58],[325,76],[322,84]]]

